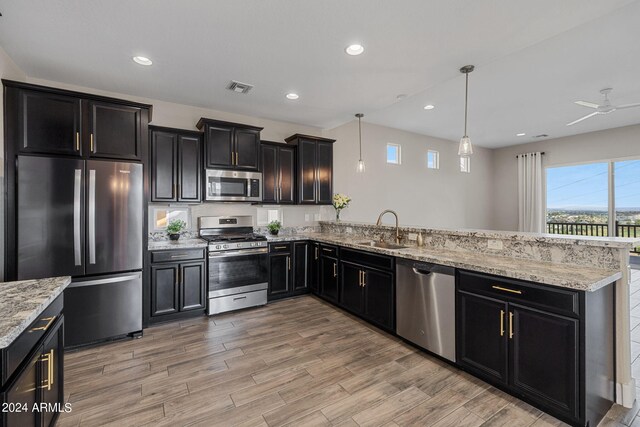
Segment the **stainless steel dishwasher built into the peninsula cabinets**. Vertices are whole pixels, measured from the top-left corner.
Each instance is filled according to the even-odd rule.
[[[398,335],[455,362],[455,270],[426,262],[396,260]]]

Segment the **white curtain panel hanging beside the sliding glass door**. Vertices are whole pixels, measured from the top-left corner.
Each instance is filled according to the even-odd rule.
[[[542,153],[518,156],[518,230],[544,231]]]

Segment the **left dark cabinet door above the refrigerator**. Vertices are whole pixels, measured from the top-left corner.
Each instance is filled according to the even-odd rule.
[[[79,98],[23,90],[19,100],[21,153],[82,154]]]

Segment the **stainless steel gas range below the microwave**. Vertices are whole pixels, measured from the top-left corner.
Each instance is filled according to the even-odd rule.
[[[198,218],[200,237],[209,242],[211,314],[267,303],[267,238],[253,232],[251,216]]]

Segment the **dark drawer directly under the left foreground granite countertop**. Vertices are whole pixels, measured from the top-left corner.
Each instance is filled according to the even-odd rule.
[[[6,349],[6,370],[2,383],[20,366],[38,341],[53,327],[62,313],[63,297],[60,294],[36,320]]]

